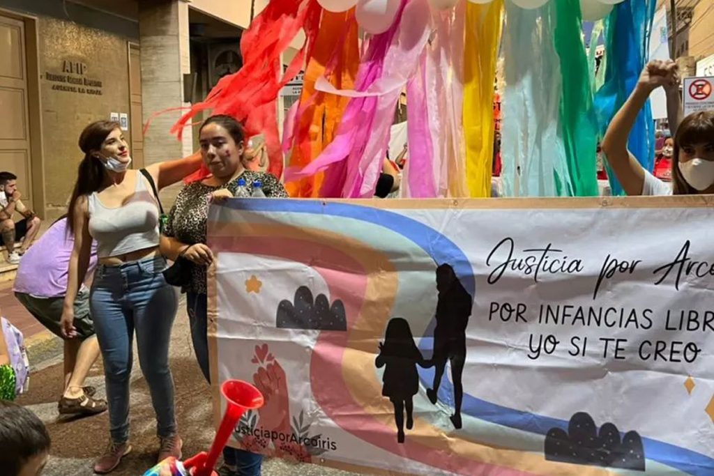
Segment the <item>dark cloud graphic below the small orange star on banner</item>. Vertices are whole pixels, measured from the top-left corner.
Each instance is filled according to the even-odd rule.
[[[280,329],[347,330],[345,306],[341,300],[332,305],[324,294],[313,294],[307,286],[295,292],[295,300],[283,300],[278,305],[276,325]]]

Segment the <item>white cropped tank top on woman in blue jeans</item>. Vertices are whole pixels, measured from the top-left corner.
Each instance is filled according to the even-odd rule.
[[[159,206],[141,174],[136,173],[134,195],[123,206],[107,208],[96,192],[88,198],[89,234],[96,240],[99,258],[159,246]]]

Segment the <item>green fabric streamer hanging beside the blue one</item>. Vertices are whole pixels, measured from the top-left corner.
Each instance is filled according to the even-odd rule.
[[[580,2],[558,0],[551,3],[555,4],[555,51],[560,57],[560,74],[563,76],[560,125],[570,182],[575,196],[598,196],[595,160],[598,123],[583,44]]]

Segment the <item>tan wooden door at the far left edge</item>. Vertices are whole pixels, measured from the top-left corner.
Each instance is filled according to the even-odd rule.
[[[0,171],[17,176],[22,201],[32,207],[25,25],[0,16]]]

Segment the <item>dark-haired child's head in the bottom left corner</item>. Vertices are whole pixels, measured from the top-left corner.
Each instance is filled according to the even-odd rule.
[[[0,401],[0,467],[8,476],[37,476],[49,456],[49,434],[36,415]]]

